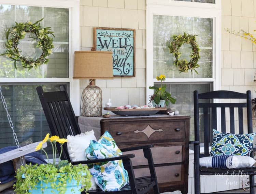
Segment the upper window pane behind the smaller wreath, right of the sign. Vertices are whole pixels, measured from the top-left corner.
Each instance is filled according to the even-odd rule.
[[[165,74],[167,78],[212,78],[212,27],[213,21],[210,18],[154,15],[154,77]],[[173,35],[184,32],[198,35],[196,39],[200,48],[200,67],[196,70],[199,75],[195,72],[191,75],[191,71],[180,73],[173,65],[175,58],[167,45]],[[191,45],[184,44],[180,51],[181,59],[190,59]]]

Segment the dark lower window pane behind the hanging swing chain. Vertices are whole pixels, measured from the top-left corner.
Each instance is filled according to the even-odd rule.
[[[50,130],[36,91],[36,87],[39,85],[4,84],[1,86],[19,143],[24,146],[42,141],[44,136],[50,133]],[[60,84],[57,83],[42,85],[46,92],[59,91],[59,86]],[[67,86],[69,87],[69,85]],[[12,129],[3,104],[0,102],[0,148],[14,145]],[[46,150],[50,150],[50,147]],[[49,153],[51,154],[51,152]]]

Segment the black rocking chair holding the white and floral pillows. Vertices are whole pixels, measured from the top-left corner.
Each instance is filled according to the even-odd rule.
[[[77,119],[75,117],[73,108],[71,106],[66,87],[60,86],[61,91],[57,92],[43,92],[43,88],[37,87],[38,96],[40,98],[45,117],[47,119],[49,128],[51,130],[52,135],[58,135],[60,138],[67,138],[67,135],[77,135],[81,133],[79,125],[77,123]],[[132,151],[143,149],[144,157],[148,161],[148,166],[150,169],[150,175],[147,177],[135,178],[131,158],[135,157],[134,154],[127,154],[118,157],[111,157],[106,159],[98,159],[98,160],[87,160],[87,161],[77,161],[72,162],[70,160],[67,146],[64,144],[63,146],[63,154],[61,156],[61,160],[68,160],[73,165],[76,164],[90,164],[97,162],[106,162],[106,161],[114,161],[114,160],[123,160],[123,164],[125,169],[128,171],[129,175],[129,184],[127,184],[122,190],[119,191],[111,191],[111,192],[103,192],[100,189],[88,191],[89,194],[146,194],[151,189],[154,190],[155,194],[160,194],[156,173],[151,153],[151,147],[153,145],[146,145],[140,147],[132,147],[132,148],[124,148],[125,151]],[[60,153],[60,147],[57,148]]]

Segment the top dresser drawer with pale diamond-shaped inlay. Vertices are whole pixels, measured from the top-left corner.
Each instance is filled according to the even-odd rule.
[[[110,123],[109,132],[117,143],[157,140],[185,141],[185,121]]]

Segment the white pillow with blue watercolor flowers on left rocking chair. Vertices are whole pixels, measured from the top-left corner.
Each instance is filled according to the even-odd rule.
[[[85,155],[90,160],[120,156],[122,152],[110,133],[106,131],[98,142],[91,140]],[[102,191],[117,191],[129,182],[122,160],[95,163],[88,165],[88,168]]]

